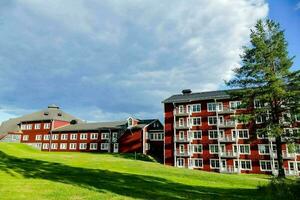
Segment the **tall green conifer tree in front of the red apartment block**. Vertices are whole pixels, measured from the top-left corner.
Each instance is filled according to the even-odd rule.
[[[230,95],[242,99],[251,110],[246,119],[262,121],[254,126],[257,133],[275,137],[278,177],[283,178],[283,140],[293,142],[298,136],[294,132],[286,135],[284,128],[292,126],[300,113],[300,70],[291,70],[293,57],[288,55],[284,31],[272,20],[257,21],[251,29],[250,45],[243,50],[242,66],[234,69],[234,77],[226,84],[238,88]]]

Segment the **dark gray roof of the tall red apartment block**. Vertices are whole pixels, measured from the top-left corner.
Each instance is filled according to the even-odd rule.
[[[165,99],[162,103],[183,103],[199,100],[230,99],[230,95],[227,93],[229,91],[234,90],[217,90],[190,94],[176,94]]]

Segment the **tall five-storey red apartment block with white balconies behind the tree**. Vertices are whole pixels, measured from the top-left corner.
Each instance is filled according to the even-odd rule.
[[[163,101],[166,165],[221,173],[278,173],[275,139],[257,135],[263,119],[240,123],[241,101],[226,91],[192,93],[183,90]],[[254,101],[254,109],[261,106]],[[285,128],[299,131],[300,119]],[[283,138],[283,142],[286,141]],[[282,145],[286,175],[300,173],[300,140],[296,152]]]

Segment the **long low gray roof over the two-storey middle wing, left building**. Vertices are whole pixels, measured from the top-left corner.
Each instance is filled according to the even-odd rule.
[[[64,132],[64,131],[92,131],[108,128],[122,128],[125,126],[127,121],[115,121],[115,122],[96,122],[96,123],[79,123],[68,125],[64,127],[57,128],[53,132]]]

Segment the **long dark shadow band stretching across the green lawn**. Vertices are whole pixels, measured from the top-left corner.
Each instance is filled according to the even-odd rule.
[[[0,170],[14,171],[25,178],[72,184],[93,191],[111,192],[140,199],[259,199],[251,189],[221,189],[190,186],[163,178],[71,167],[28,158],[17,158],[0,151]],[[13,175],[12,173],[10,173]]]

